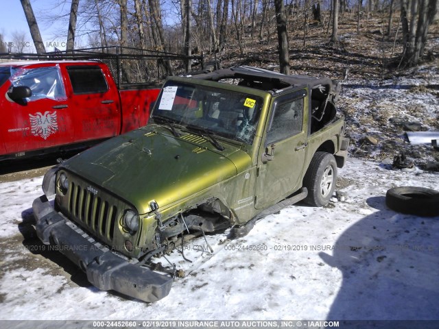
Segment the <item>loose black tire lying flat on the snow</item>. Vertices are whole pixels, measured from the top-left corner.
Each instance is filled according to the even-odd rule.
[[[385,204],[403,214],[433,217],[439,215],[439,191],[416,186],[390,188]]]

